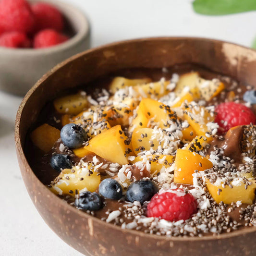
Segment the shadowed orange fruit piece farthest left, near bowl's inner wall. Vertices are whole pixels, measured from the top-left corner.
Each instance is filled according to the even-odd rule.
[[[33,144],[43,150],[49,152],[55,142],[61,137],[61,131],[55,127],[44,123],[37,127],[30,135]]]

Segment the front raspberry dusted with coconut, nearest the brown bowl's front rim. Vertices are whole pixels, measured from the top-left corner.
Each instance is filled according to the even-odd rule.
[[[156,194],[147,205],[147,217],[158,217],[170,221],[186,220],[197,211],[195,197],[185,194],[183,189]]]

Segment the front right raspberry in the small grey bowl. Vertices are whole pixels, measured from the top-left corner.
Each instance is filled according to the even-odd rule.
[[[69,37],[56,32],[53,29],[41,30],[34,37],[34,48],[46,48],[61,44],[67,41]]]

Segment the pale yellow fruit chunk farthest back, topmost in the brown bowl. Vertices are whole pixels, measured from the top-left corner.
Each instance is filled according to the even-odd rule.
[[[178,83],[176,84],[174,92],[182,97],[189,91],[193,98],[198,98],[198,88],[196,85],[196,80],[198,77],[198,72],[185,73],[181,75]],[[189,89],[187,90],[185,87],[188,87]]]

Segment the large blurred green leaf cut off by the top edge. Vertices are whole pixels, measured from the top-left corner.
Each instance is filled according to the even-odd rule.
[[[256,10],[256,0],[195,0],[194,11],[204,15],[225,15]]]

